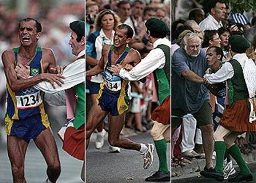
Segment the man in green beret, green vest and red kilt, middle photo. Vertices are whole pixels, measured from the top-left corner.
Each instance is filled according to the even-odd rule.
[[[145,181],[162,182],[170,180],[168,169],[168,160],[166,155],[166,142],[170,140],[170,45],[171,42],[166,38],[169,35],[168,25],[155,17],[150,18],[145,23],[147,28],[148,40],[153,43],[153,49],[148,55],[132,67],[126,65],[112,66],[111,72],[114,75],[119,75],[125,80],[141,80],[148,74],[153,72],[158,100],[160,106],[156,108],[151,116],[155,121],[151,129],[151,137],[155,142],[156,152],[158,154],[160,166],[150,177]],[[129,70],[129,71],[128,71]]]

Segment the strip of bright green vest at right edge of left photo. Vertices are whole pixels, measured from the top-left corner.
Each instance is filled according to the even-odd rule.
[[[85,124],[85,83],[75,85],[75,96],[77,96],[77,104],[75,106],[74,127],[79,129]]]

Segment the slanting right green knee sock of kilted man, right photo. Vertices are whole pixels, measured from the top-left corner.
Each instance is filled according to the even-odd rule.
[[[236,160],[236,163],[238,164],[241,174],[243,175],[249,175],[252,172],[250,172],[250,169],[248,168],[247,164],[245,163],[244,159],[242,158],[241,152],[237,145],[233,145],[231,148],[228,149],[229,154]]]

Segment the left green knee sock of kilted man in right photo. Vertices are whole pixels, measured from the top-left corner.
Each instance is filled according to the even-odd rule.
[[[222,141],[215,142],[215,151],[216,151],[216,172],[223,173],[223,161],[226,153],[226,144]]]

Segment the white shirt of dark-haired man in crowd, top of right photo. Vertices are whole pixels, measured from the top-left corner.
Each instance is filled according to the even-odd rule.
[[[218,22],[211,14],[209,14],[202,22],[199,23],[200,30],[218,30],[223,27],[221,21]]]

